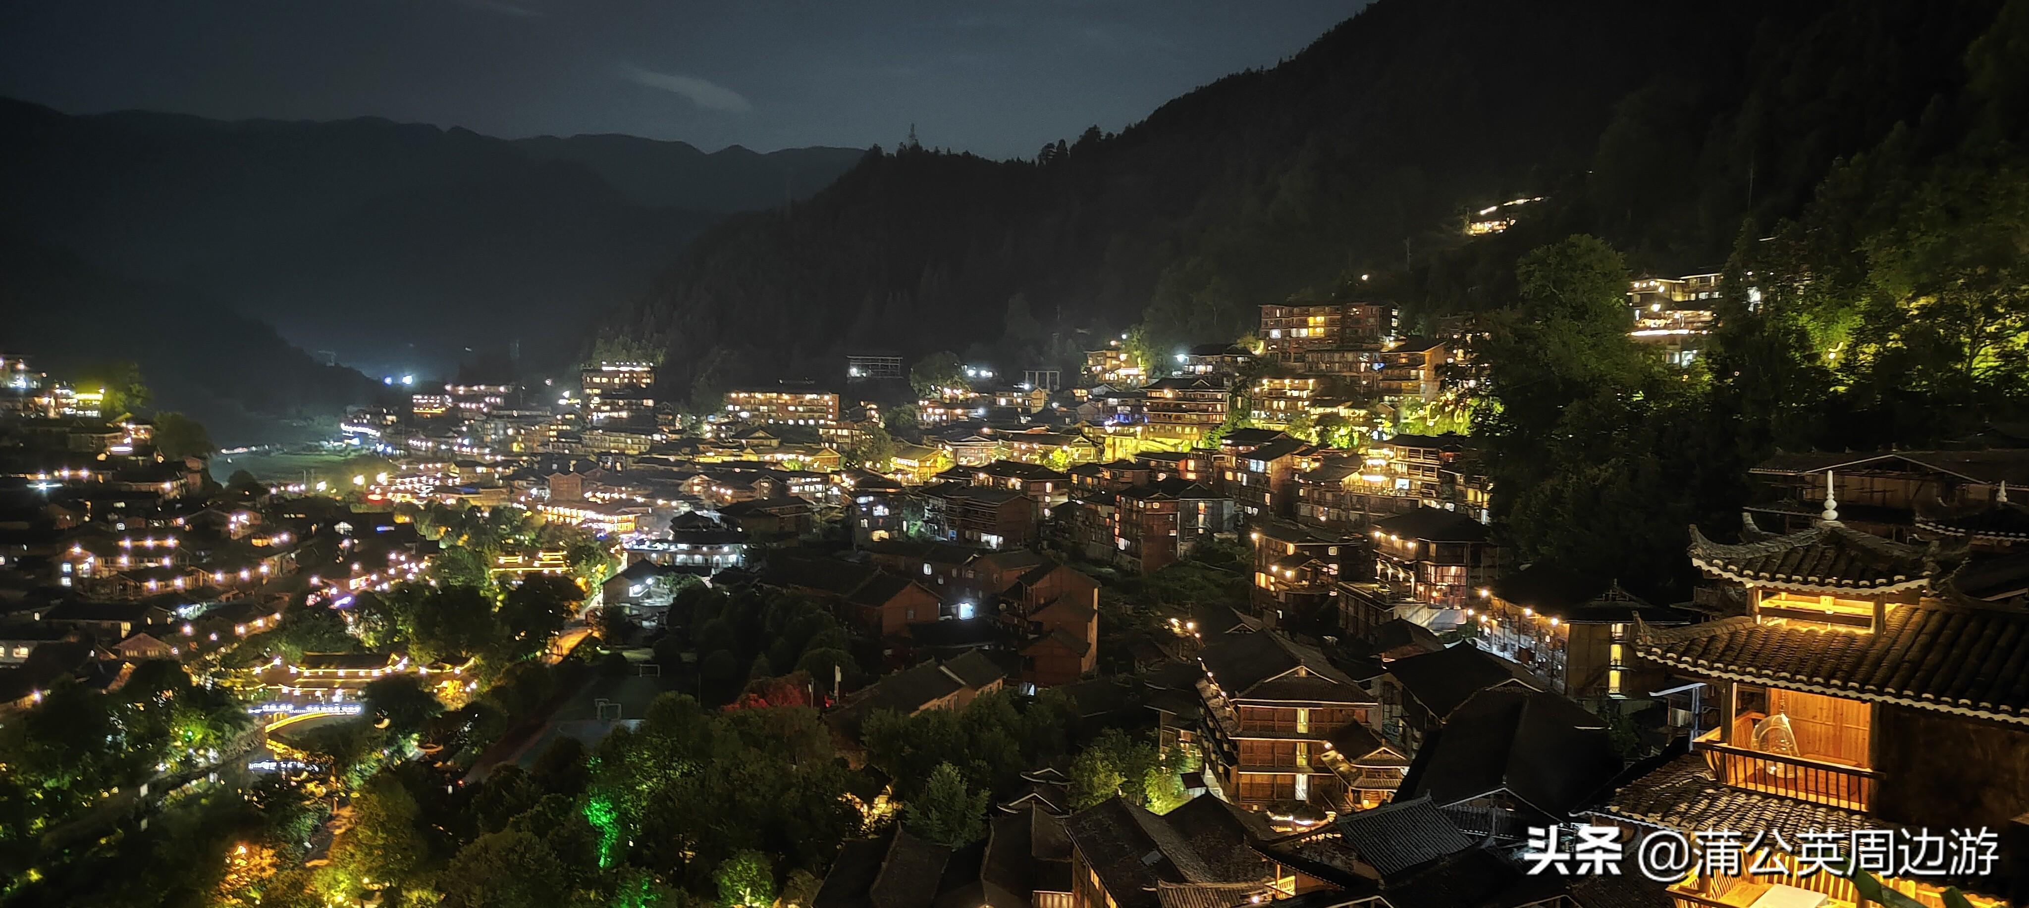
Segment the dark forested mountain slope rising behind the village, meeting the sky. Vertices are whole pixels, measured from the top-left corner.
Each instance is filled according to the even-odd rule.
[[[1077,328],[1232,338],[1260,302],[1347,270],[1412,312],[1493,306],[1520,243],[1554,231],[1641,266],[1717,263],[1745,215],[1798,211],[1834,158],[1960,81],[1990,18],[1984,2],[1382,0],[1118,136],[1019,162],[868,154],[787,217],[706,233],[609,330],[708,385],[982,336],[1012,369],[1073,353]],[[1457,249],[1467,211],[1524,195],[1550,197],[1536,229]]]

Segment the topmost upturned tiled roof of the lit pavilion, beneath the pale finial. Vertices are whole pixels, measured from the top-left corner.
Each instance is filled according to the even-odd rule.
[[[1741,543],[1715,543],[1698,527],[1690,527],[1690,563],[1741,584],[1895,592],[1930,586],[1930,578],[1940,574],[1940,559],[1964,553],[1895,543],[1838,521],[1767,535],[1749,519],[1743,535],[1747,539]]]

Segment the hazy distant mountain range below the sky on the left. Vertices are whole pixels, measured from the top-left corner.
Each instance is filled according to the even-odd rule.
[[[556,363],[700,229],[808,197],[862,154],[497,140],[373,118],[65,116],[4,99],[0,134],[0,231],[390,371],[446,371],[509,340]]]

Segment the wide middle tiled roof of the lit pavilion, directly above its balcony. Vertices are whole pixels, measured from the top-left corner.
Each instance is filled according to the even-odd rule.
[[[1641,626],[1637,653],[1692,675],[2029,724],[2029,612],[1895,606],[1871,634],[1721,618]]]

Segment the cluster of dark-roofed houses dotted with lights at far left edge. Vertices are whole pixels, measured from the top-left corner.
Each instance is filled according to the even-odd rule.
[[[114,687],[144,659],[219,655],[296,596],[386,588],[436,549],[386,509],[221,488],[150,420],[53,409],[63,385],[4,363],[0,713],[63,677]]]

